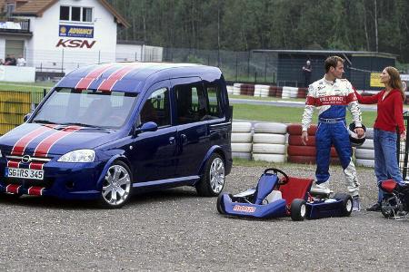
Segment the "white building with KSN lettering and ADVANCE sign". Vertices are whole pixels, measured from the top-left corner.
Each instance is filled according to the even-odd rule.
[[[23,55],[36,72],[68,73],[85,64],[121,60],[162,61],[160,47],[117,44],[117,27],[129,24],[105,0],[0,0],[1,10],[0,59]],[[153,49],[159,52],[155,59],[146,58]]]

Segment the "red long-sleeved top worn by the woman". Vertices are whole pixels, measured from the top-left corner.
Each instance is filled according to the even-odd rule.
[[[378,116],[374,123],[374,129],[383,131],[396,131],[399,128],[399,133],[405,131],[404,129],[404,102],[402,101],[401,92],[397,89],[389,92],[384,97],[385,90],[378,92],[371,96],[362,96],[355,91],[358,102],[363,104],[378,104]]]

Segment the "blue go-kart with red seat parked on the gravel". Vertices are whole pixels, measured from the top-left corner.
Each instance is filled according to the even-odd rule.
[[[288,177],[282,170],[264,170],[257,186],[232,195],[220,194],[217,210],[221,214],[267,219],[291,216],[295,221],[327,217],[348,217],[353,200],[349,194],[311,189],[312,179]]]

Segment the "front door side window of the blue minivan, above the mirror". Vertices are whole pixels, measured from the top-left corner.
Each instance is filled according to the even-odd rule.
[[[155,121],[158,127],[170,125],[169,90],[161,88],[152,92],[141,111],[141,123]]]

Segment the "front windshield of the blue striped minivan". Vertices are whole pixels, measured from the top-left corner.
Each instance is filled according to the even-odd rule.
[[[120,128],[134,108],[135,92],[55,89],[31,122]]]

